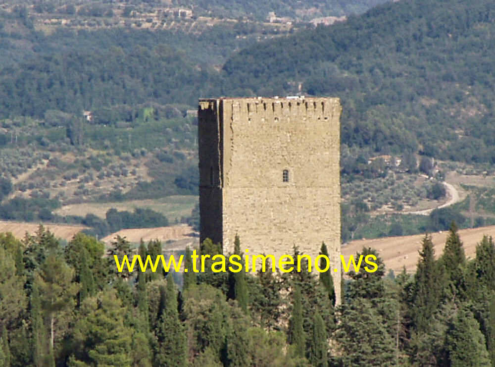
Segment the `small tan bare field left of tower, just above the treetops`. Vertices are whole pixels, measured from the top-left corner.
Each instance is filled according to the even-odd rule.
[[[133,228],[133,229],[121,229],[118,232],[112,233],[101,239],[107,246],[118,235],[125,237],[127,241],[132,243],[139,243],[141,239],[148,242],[150,240],[160,240],[166,250],[175,250],[175,247],[179,250],[184,250],[186,245],[191,242],[194,245],[198,242],[198,237],[193,228],[189,225],[173,225],[169,227],[154,227],[154,228]],[[172,246],[166,246],[167,241],[173,241]]]

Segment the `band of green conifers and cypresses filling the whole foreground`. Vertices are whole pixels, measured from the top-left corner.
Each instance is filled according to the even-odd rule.
[[[378,270],[347,273],[335,305],[330,271],[304,262],[255,275],[213,273],[208,262],[177,287],[175,273],[116,271],[113,255],[136,253],[124,238],[105,252],[93,237],[65,244],[41,226],[22,241],[0,234],[0,365],[495,366],[495,245],[480,240],[467,260],[452,226],[435,260],[425,236],[413,275],[387,275],[363,248],[356,255],[377,256]],[[161,247],[137,253],[154,258]],[[206,240],[200,252],[221,246]]]

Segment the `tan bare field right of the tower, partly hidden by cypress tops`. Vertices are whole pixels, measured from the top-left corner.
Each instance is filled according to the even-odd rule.
[[[436,258],[442,255],[447,235],[448,231],[432,233]],[[459,230],[459,236],[464,244],[467,258],[472,259],[476,256],[476,245],[483,239],[483,235],[495,237],[495,226]],[[414,235],[356,240],[342,247],[342,255],[348,261],[349,255],[355,255],[363,247],[371,247],[378,251],[387,269],[392,269],[397,274],[405,266],[408,272],[414,272],[416,271],[419,259],[418,251],[421,249],[423,238],[424,235]]]

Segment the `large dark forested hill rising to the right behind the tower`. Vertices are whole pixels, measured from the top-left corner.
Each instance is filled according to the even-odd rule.
[[[492,1],[399,1],[247,48],[223,70],[245,94],[342,99],[342,143],[495,162]]]

